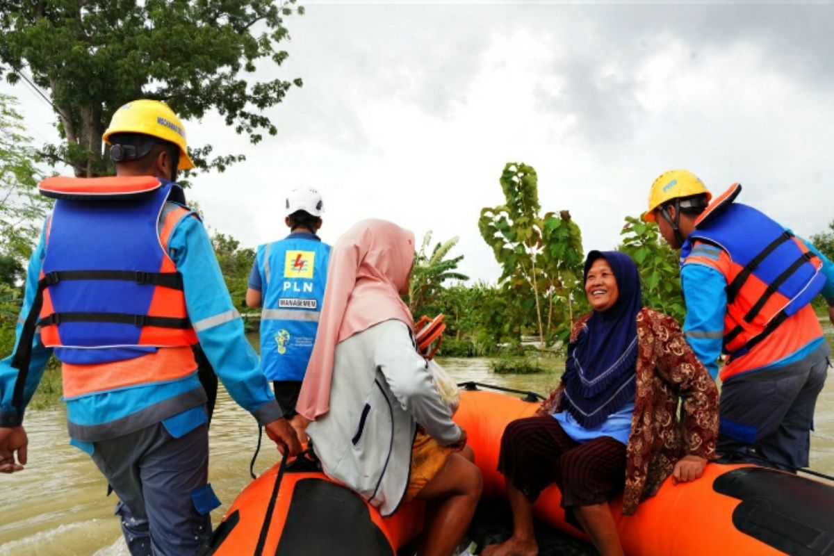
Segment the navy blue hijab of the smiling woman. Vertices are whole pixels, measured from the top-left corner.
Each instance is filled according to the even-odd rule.
[[[562,405],[585,428],[599,426],[634,399],[636,318],[643,307],[640,275],[631,257],[618,251],[591,251],[585,259],[585,279],[598,258],[608,262],[620,296],[607,311],[594,311],[576,340],[568,344],[562,375]]]

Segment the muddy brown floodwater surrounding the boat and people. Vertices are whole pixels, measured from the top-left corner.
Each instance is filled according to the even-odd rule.
[[[834,345],[834,329],[826,335]],[[491,383],[546,394],[557,373],[496,375],[485,358],[440,359],[457,381]],[[87,454],[68,444],[66,413],[58,408],[30,411],[29,464],[20,473],[0,474],[0,555],[96,554],[125,555],[113,517],[115,495],[105,498],[107,483]],[[221,391],[209,433],[209,480],[224,505],[213,513],[219,522],[234,497],[249,483],[249,460],[258,428],[248,413]],[[264,436],[255,473],[279,459]],[[811,468],[834,474],[834,380],[826,383],[816,407],[816,431],[811,438]]]

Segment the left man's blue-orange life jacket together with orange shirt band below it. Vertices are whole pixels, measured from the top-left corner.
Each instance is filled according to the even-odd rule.
[[[173,227],[191,214],[168,203],[184,202],[182,189],[148,177],[50,178],[40,189],[57,201],[36,302],[13,360],[16,405],[36,325],[63,363],[65,398],[192,374],[198,339],[166,252]]]

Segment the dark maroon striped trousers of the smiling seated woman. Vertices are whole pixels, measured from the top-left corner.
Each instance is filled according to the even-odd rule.
[[[562,508],[592,506],[625,485],[625,445],[607,436],[578,443],[550,415],[521,418],[501,437],[498,470],[530,501],[556,483]]]

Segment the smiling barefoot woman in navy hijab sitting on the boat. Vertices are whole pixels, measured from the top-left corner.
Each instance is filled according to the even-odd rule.
[[[676,321],[642,307],[635,263],[591,251],[585,294],[594,311],[575,324],[560,385],[537,416],[513,421],[501,438],[498,469],[515,528],[485,556],[538,553],[532,508],[550,483],[568,522],[600,553],[622,554],[610,498],[624,491],[622,512],[634,513],[669,475],[695,480],[715,457],[716,385]]]

